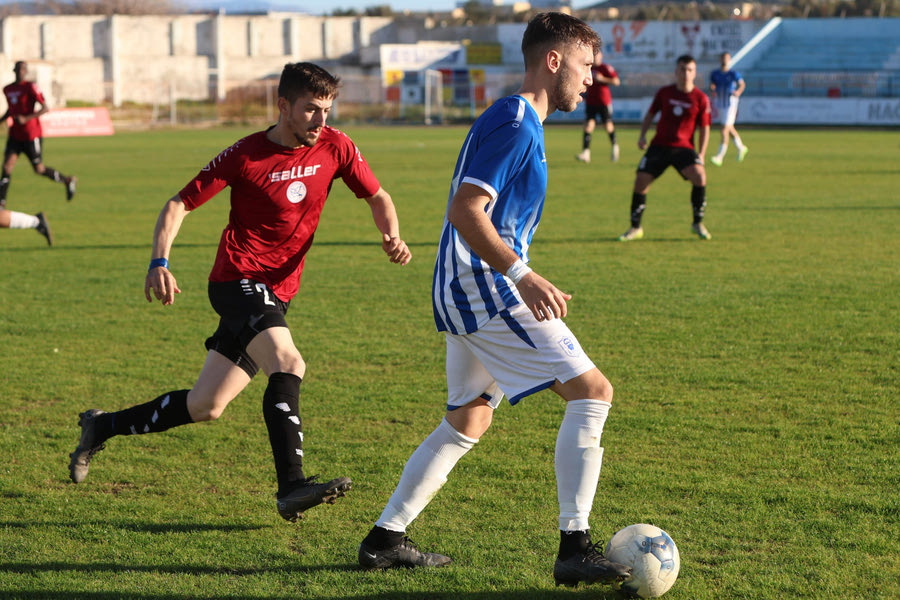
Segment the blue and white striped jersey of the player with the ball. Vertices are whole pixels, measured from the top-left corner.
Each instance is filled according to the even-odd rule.
[[[521,96],[495,102],[472,125],[450,184],[476,185],[491,201],[485,212],[503,241],[526,263],[547,196],[544,126]],[[449,200],[448,200],[449,207]],[[515,285],[491,269],[444,217],[432,284],[438,331],[472,333],[522,299]]]

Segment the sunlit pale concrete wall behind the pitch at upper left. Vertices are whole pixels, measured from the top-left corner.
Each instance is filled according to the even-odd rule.
[[[223,98],[277,77],[287,62],[358,63],[392,31],[385,17],[294,13],[9,16],[0,20],[0,73],[8,74],[0,84],[26,60],[51,106]]]

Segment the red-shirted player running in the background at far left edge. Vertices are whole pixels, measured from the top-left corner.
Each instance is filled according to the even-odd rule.
[[[3,117],[0,117],[2,121],[12,117],[6,151],[3,154],[3,174],[0,176],[0,207],[6,206],[9,180],[19,154],[23,152],[31,161],[34,172],[66,186],[66,200],[71,200],[75,196],[76,178],[63,175],[53,167],[45,166],[43,162],[44,132],[41,129],[41,115],[50,110],[50,107],[37,84],[26,80],[28,65],[24,61],[18,61],[13,72],[16,74],[16,81],[3,88],[8,108]],[[38,104],[41,107],[36,110]]]

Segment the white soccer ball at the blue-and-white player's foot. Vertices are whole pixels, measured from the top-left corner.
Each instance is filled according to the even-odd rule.
[[[678,577],[681,558],[669,534],[640,523],[620,529],[606,545],[606,558],[631,568],[622,591],[641,598],[656,598]]]

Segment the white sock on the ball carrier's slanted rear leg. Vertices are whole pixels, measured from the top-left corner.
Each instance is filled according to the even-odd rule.
[[[406,531],[447,482],[453,466],[477,442],[456,431],[447,419],[441,421],[409,457],[400,483],[375,525],[390,531]]]

